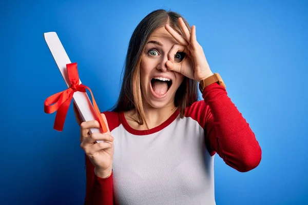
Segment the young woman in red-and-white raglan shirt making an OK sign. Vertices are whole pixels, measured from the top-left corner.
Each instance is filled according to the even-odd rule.
[[[119,100],[102,116],[108,133],[89,134],[98,121],[80,124],[85,204],[215,204],[215,153],[239,172],[261,160],[196,27],[175,12],[153,11],[134,30]]]

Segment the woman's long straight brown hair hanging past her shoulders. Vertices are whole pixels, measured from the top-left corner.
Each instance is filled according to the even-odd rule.
[[[129,41],[125,59],[123,83],[117,103],[112,111],[122,112],[135,109],[139,125],[147,125],[144,117],[143,97],[140,87],[140,61],[150,35],[158,28],[169,24],[179,34],[181,31],[178,18],[182,17],[190,31],[190,26],[185,18],[177,12],[163,9],[155,10],[145,16],[133,31]],[[186,107],[198,100],[198,84],[196,80],[184,78],[176,91],[175,106],[183,118]]]

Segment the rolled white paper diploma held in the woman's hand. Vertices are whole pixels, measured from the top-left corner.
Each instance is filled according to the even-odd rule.
[[[69,88],[71,84],[68,79],[66,65],[70,64],[71,61],[66,51],[64,50],[62,43],[59,37],[57,36],[56,32],[44,33],[44,38],[53,56],[53,59],[55,60],[55,63],[59,68],[67,87]],[[79,84],[81,84],[80,79],[79,79]],[[78,111],[83,121],[89,121],[89,120],[99,121],[95,113],[95,110],[91,104],[91,101],[89,99],[89,96],[86,92],[80,92],[80,91],[74,92],[73,100],[76,104],[76,107],[78,108]],[[103,130],[98,128],[91,128],[90,133],[103,133]],[[97,142],[102,142],[102,141],[97,141]]]

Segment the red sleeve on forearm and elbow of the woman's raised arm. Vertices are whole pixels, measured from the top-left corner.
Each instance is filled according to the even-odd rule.
[[[205,139],[211,155],[215,152],[224,162],[240,172],[256,168],[261,148],[249,124],[219,84],[207,86],[202,93],[206,106]]]

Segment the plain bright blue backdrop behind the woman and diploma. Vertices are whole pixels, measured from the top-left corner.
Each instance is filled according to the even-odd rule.
[[[232,2],[232,3],[231,3]],[[211,70],[255,132],[262,161],[240,173],[216,156],[217,204],[308,204],[305,1],[0,3],[0,204],[83,204],[84,153],[72,106],[63,132],[44,100],[66,89],[43,38],[59,35],[101,111],[117,100],[140,20],[171,9],[196,25]]]

